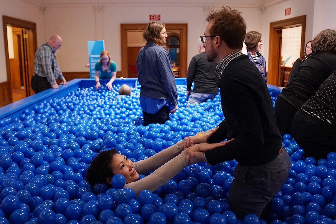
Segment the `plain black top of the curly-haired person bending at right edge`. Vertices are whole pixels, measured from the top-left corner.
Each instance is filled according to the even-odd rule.
[[[278,97],[299,110],[320,85],[336,70],[336,55],[327,52],[311,53],[302,62],[295,78],[286,85]]]

